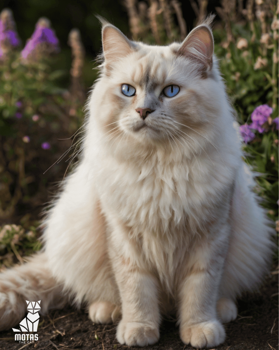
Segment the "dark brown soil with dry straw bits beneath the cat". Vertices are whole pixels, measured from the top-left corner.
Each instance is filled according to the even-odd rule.
[[[238,317],[225,325],[226,340],[214,350],[278,349],[278,273],[271,273],[257,294],[238,300]],[[67,307],[40,317],[38,341],[25,344],[14,340],[12,330],[0,332],[1,350],[127,350],[116,340],[116,324],[93,324],[84,310]],[[131,348],[133,349],[133,348]],[[150,350],[190,350],[179,338],[174,322],[164,321],[160,340]]]

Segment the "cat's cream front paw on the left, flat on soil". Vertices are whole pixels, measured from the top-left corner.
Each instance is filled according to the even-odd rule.
[[[118,324],[116,338],[120,344],[128,346],[152,345],[159,340],[159,328],[152,323],[121,320]]]

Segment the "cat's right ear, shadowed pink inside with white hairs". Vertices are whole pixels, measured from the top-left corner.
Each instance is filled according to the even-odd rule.
[[[207,25],[200,25],[191,30],[177,53],[198,60],[211,68],[214,53],[214,40],[211,29]]]

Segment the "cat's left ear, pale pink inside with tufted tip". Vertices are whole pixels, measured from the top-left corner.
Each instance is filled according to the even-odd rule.
[[[113,62],[131,54],[135,45],[116,27],[106,23],[102,28],[105,62]]]

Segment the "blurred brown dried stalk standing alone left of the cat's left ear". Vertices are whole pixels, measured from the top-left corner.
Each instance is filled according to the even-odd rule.
[[[80,102],[84,102],[85,93],[82,84],[82,69],[84,65],[85,51],[81,41],[81,34],[78,29],[72,29],[69,33],[68,45],[72,50],[71,74],[71,95]]]

